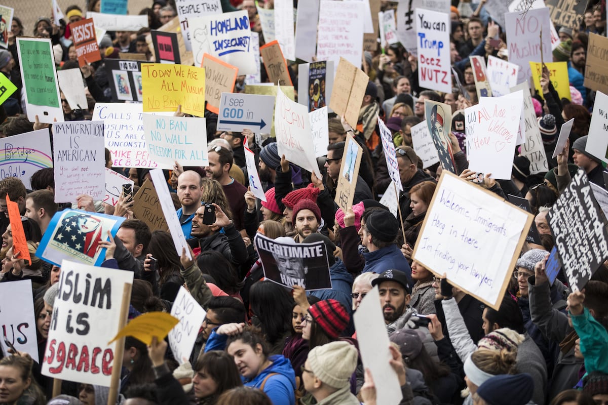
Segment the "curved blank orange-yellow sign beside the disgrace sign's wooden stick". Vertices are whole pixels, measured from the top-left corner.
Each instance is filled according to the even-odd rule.
[[[159,340],[166,338],[178,323],[179,319],[167,312],[148,312],[130,321],[108,344],[123,336],[133,336],[145,344],[150,344],[154,336]]]

